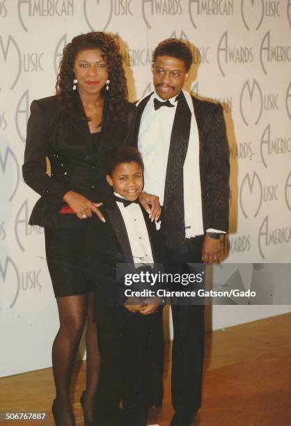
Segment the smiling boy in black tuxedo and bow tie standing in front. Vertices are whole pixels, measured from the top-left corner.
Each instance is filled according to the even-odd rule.
[[[113,152],[107,161],[107,182],[113,194],[102,209],[105,222],[95,221],[96,247],[91,249],[95,322],[102,358],[98,420],[102,426],[145,426],[148,406],[162,402],[162,395],[148,400],[148,393],[153,397],[153,393],[162,392],[162,384],[149,383],[153,377],[162,380],[162,299],[135,297],[137,290],[157,290],[157,286],[125,285],[125,272],[118,278],[117,264],[127,264],[127,277],[131,276],[129,272],[152,271],[146,264],[161,262],[162,244],[155,222],[138,201],[143,189],[139,151],[123,146]],[[146,356],[152,333],[159,333],[159,359],[155,362]],[[122,411],[118,408],[120,400]]]

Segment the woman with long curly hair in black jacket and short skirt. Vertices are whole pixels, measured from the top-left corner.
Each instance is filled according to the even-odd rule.
[[[130,143],[135,107],[127,86],[119,47],[111,36],[91,32],[72,39],[63,50],[56,96],[35,100],[27,127],[24,180],[40,200],[29,223],[45,227],[47,265],[58,304],[60,328],[52,348],[57,425],[75,424],[70,380],[87,319],[86,390],[81,396],[86,425],[95,419],[100,355],[92,313],[92,283],[86,278],[86,232],[92,214],[107,196],[104,158]],[[49,159],[50,175],[47,174]],[[159,214],[155,198],[143,205]]]

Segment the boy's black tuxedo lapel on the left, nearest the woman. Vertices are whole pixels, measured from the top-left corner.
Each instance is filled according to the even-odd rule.
[[[113,230],[116,233],[116,237],[118,239],[120,247],[125,255],[126,262],[134,263],[132,249],[130,248],[127,230],[123,221],[123,215],[120,213],[120,210],[118,209],[116,203],[112,203],[112,207],[107,208],[106,211],[111,221]]]

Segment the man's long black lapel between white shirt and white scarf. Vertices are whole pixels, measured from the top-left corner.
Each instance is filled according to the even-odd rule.
[[[185,237],[183,166],[189,145],[190,126],[191,111],[181,94],[171,133],[164,192],[163,228],[169,246],[182,244]]]

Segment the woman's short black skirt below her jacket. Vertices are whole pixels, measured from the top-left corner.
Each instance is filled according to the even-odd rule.
[[[76,296],[93,290],[86,265],[86,229],[45,228],[47,266],[55,297]]]

